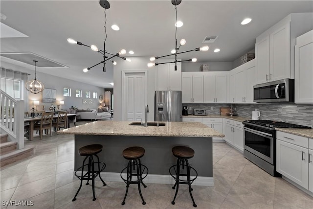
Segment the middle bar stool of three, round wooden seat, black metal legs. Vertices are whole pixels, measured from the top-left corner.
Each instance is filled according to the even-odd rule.
[[[124,149],[123,151],[123,157],[126,160],[129,160],[127,167],[125,167],[122,172],[121,172],[121,178],[123,181],[126,183],[126,193],[124,200],[122,202],[122,206],[125,205],[125,199],[128,193],[128,187],[129,185],[132,184],[137,184],[138,185],[138,190],[139,194],[142,200],[142,205],[145,205],[146,202],[144,201],[142,194],[141,194],[141,189],[140,189],[140,184],[142,184],[143,187],[147,187],[145,184],[143,184],[142,180],[147,177],[148,175],[148,168],[147,166],[141,164],[140,158],[145,154],[145,149],[142,147],[129,147]],[[132,171],[132,166],[133,170]],[[127,170],[127,176],[126,179],[122,176],[122,173]],[[144,175],[144,177],[142,177]],[[133,176],[137,176],[137,180],[132,180]]]

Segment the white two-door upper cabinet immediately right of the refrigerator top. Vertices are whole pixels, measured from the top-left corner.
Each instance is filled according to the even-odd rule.
[[[203,103],[203,74],[182,73],[181,86],[182,103]]]

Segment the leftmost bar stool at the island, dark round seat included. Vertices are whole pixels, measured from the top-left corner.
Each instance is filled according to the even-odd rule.
[[[99,157],[97,155],[101,151],[102,151],[102,145],[101,144],[90,144],[90,145],[87,145],[87,146],[84,146],[84,147],[81,147],[78,149],[78,154],[80,156],[86,156],[86,157],[83,161],[83,165],[75,171],[75,176],[80,180],[80,186],[79,186],[79,188],[75,194],[75,197],[72,199],[72,201],[76,200],[76,196],[78,195],[78,192],[82,187],[83,180],[87,180],[86,185],[89,185],[89,180],[91,180],[92,194],[93,194],[92,201],[95,201],[97,199],[97,198],[95,198],[95,195],[94,195],[94,179],[98,175],[99,175],[100,180],[103,183],[103,186],[106,186],[106,183],[103,181],[103,179],[101,178],[101,175],[100,175],[100,172],[104,170],[104,168],[106,167],[106,164],[100,162]],[[97,162],[93,161],[93,156],[97,157]],[[87,160],[87,158],[89,158],[89,161],[87,164],[85,164],[85,161]],[[98,164],[98,170],[94,170],[94,164]],[[101,169],[100,169],[100,164],[102,165]],[[84,174],[84,167],[85,166],[88,167],[88,172]],[[80,176],[78,176],[76,173],[80,169],[82,171],[82,174]]]

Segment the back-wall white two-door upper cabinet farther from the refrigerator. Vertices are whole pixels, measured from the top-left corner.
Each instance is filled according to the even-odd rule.
[[[203,77],[204,103],[227,102],[228,72],[205,72]]]

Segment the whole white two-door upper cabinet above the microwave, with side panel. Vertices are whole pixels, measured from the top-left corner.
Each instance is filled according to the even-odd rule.
[[[257,84],[294,78],[295,38],[312,25],[312,13],[292,13],[256,38]]]

